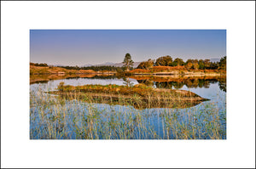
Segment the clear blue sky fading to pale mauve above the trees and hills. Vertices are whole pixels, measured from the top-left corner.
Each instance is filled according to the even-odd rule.
[[[226,55],[225,30],[31,30],[30,61],[49,65],[213,59]]]

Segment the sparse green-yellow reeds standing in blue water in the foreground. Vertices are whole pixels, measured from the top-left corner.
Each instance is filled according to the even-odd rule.
[[[68,95],[40,90],[30,93],[31,139],[226,138],[225,105],[218,102],[204,102],[189,109],[136,109],[134,99],[137,106],[142,106],[137,93],[133,93],[132,100],[120,98],[119,104],[114,99],[102,103],[103,97],[95,99],[85,93],[82,99],[71,96],[68,99]]]

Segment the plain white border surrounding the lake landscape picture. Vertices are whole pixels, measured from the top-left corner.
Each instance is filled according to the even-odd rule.
[[[255,167],[254,2],[1,2],[1,167]],[[30,29],[226,29],[227,140],[29,140]]]

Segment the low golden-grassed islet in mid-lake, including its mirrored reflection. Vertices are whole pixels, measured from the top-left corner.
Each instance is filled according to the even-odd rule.
[[[61,82],[57,91],[46,93],[90,103],[131,105],[139,110],[146,108],[188,108],[209,100],[185,90],[160,89],[143,84],[132,87],[118,85],[70,86]]]

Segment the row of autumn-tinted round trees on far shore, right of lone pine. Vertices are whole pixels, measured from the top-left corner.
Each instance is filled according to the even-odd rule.
[[[188,59],[186,62],[183,59],[176,58],[172,60],[172,57],[162,56],[158,59],[141,62],[137,69],[150,70],[153,66],[177,66],[183,65],[188,70],[226,70],[226,56],[220,59],[219,62],[211,62],[210,59]]]

